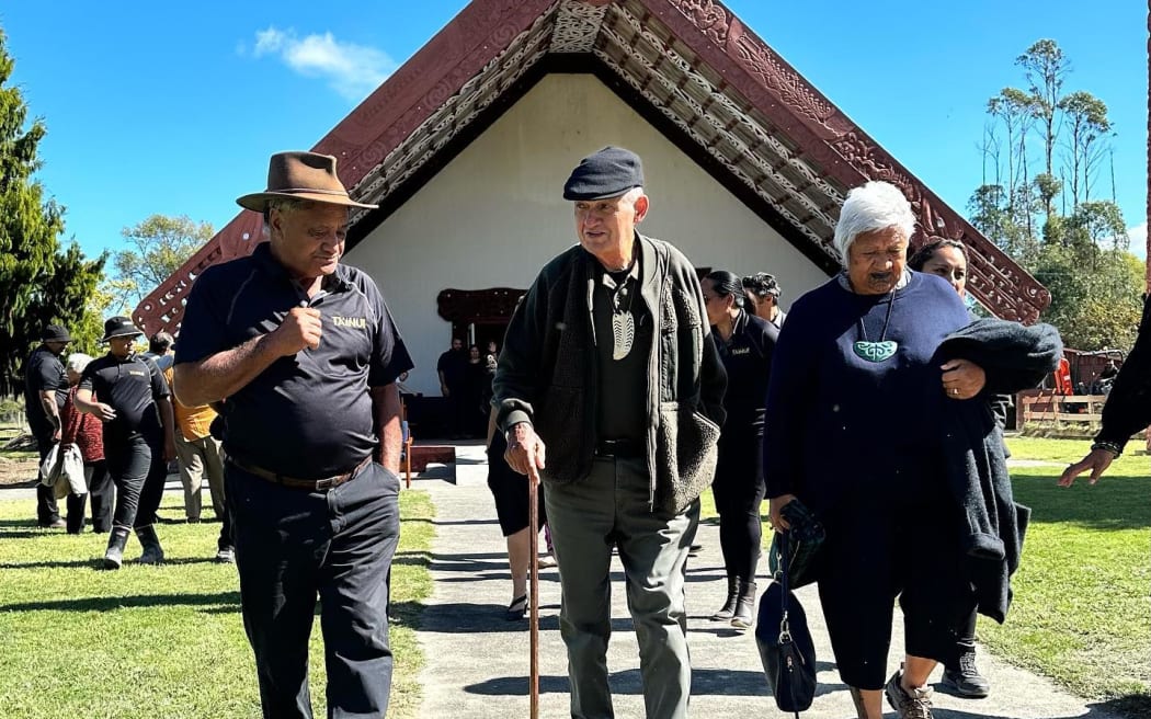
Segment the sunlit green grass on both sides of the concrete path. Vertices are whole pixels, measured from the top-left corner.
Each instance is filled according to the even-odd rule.
[[[1017,500],[1034,510],[1031,526],[1007,624],[981,619],[978,635],[997,655],[1074,694],[1121,716],[1151,717],[1151,458],[1120,458],[1095,487],[1057,487],[1088,444],[1009,441],[1015,459],[1050,466],[1012,471]],[[703,499],[703,521],[716,521],[710,492]],[[178,498],[166,507],[166,515],[182,515]],[[31,500],[0,502],[0,716],[256,716],[235,568],[208,561],[218,526],[162,525],[167,566],[105,573],[93,568],[102,536],[40,530],[32,514]],[[420,701],[413,627],[432,589],[434,508],[425,494],[405,491],[402,514],[389,717],[410,719]],[[135,557],[138,548],[129,546]],[[318,629],[312,651],[313,701],[322,706]]]

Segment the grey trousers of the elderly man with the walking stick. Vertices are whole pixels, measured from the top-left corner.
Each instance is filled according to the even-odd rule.
[[[699,527],[699,500],[681,514],[651,511],[642,458],[597,458],[585,480],[549,482],[544,502],[559,563],[559,633],[567,647],[572,718],[615,717],[607,653],[611,549],[617,546],[640,645],[647,717],[683,719],[692,687],[684,568]]]

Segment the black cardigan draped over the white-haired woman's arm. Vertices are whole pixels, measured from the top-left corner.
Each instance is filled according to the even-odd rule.
[[[1011,605],[1009,580],[1019,568],[1031,511],[1012,496],[1003,430],[988,396],[1035,387],[1061,355],[1055,328],[1003,320],[976,320],[948,335],[937,353],[940,364],[963,358],[986,373],[978,397],[944,405],[942,428],[947,483],[962,518],[960,538],[978,611],[999,622]]]

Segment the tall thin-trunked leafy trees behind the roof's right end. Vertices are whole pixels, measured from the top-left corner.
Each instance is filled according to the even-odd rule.
[[[1127,349],[1139,320],[1143,266],[1127,251],[1120,207],[1091,200],[1100,160],[1110,152],[1107,106],[1090,92],[1064,93],[1070,62],[1054,40],[1035,43],[1015,62],[1028,90],[1005,87],[988,101],[984,184],[968,201],[971,224],[1051,291],[1043,320],[1059,328],[1067,346]],[[1029,154],[1035,125],[1043,139],[1038,158]],[[1006,133],[1006,153],[999,131]],[[1062,178],[1054,174],[1057,151]],[[994,183],[986,181],[989,161]],[[1044,171],[1028,181],[1028,167]],[[1045,221],[1037,231],[1041,214]]]

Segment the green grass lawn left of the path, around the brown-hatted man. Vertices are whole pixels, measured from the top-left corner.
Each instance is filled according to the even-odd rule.
[[[161,513],[183,517],[181,498]],[[434,507],[401,495],[403,527],[391,573],[396,655],[389,717],[420,702],[424,657],[416,641]],[[162,567],[96,569],[107,535],[35,527],[33,500],[0,502],[0,716],[249,718],[259,716],[256,666],[239,615],[231,565],[211,561],[220,526],[161,523]],[[132,540],[127,556],[139,554]],[[323,716],[319,621],[312,633],[312,701]]]

